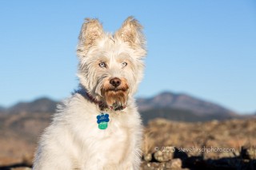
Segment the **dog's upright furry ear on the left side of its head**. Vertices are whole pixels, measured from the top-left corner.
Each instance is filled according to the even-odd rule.
[[[85,57],[94,42],[103,34],[102,24],[98,19],[86,18],[78,37],[78,57]]]

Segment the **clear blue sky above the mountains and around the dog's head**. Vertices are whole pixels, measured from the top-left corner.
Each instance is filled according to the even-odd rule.
[[[84,18],[114,32],[134,15],[148,41],[138,97],[188,93],[256,111],[256,1],[2,1],[0,105],[68,97]]]

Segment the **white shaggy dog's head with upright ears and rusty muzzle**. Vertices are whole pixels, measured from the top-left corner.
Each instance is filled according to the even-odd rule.
[[[78,77],[88,93],[108,106],[122,107],[138,88],[146,56],[142,26],[132,17],[114,34],[86,18],[79,35]]]

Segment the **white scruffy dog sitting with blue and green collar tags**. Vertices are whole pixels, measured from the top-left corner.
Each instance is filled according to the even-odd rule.
[[[77,49],[80,89],[58,105],[39,141],[34,170],[139,169],[142,122],[134,93],[145,42],[132,17],[114,34],[86,19]]]

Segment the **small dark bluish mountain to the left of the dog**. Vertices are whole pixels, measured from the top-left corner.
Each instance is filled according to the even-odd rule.
[[[58,102],[42,97],[31,102],[19,102],[5,113],[54,113]]]

